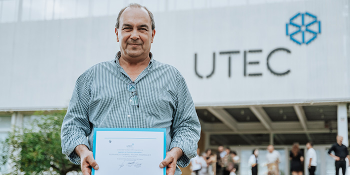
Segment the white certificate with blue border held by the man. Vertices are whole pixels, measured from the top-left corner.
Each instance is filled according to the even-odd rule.
[[[94,128],[92,175],[165,175],[159,164],[166,155],[164,128]]]

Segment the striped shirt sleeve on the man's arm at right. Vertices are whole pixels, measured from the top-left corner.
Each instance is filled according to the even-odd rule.
[[[178,147],[183,151],[177,165],[186,167],[190,159],[197,155],[201,126],[185,80],[179,73],[177,88],[177,109],[172,124],[170,149]]]

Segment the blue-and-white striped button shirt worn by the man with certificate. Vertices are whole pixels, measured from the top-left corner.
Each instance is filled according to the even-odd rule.
[[[92,150],[93,128],[166,128],[167,150],[184,152],[178,166],[188,166],[197,155],[201,127],[185,79],[174,67],[150,57],[134,82],[119,65],[120,52],[78,78],[61,131],[62,152],[70,161],[80,164],[76,146]],[[136,84],[138,106],[129,102],[130,83]]]

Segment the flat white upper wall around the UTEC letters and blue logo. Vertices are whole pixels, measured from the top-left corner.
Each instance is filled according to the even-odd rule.
[[[212,9],[155,13],[154,58],[177,67],[187,80],[197,106],[350,101],[348,1],[305,0],[243,4]],[[310,12],[322,32],[309,45],[286,36],[286,23],[296,13]],[[90,66],[114,59],[118,43],[114,16],[26,21],[0,24],[0,110],[67,107],[75,80]],[[270,64],[285,76],[272,74]],[[248,53],[243,75],[243,52]],[[232,55],[228,77],[228,55]],[[200,79],[194,72],[194,54]]]

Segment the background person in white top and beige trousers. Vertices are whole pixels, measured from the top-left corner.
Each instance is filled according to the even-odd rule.
[[[281,155],[278,151],[275,150],[273,145],[269,145],[267,147],[268,153],[266,154],[266,160],[267,160],[267,169],[268,169],[268,175],[278,175],[279,174],[279,167],[278,164],[281,160]]]

